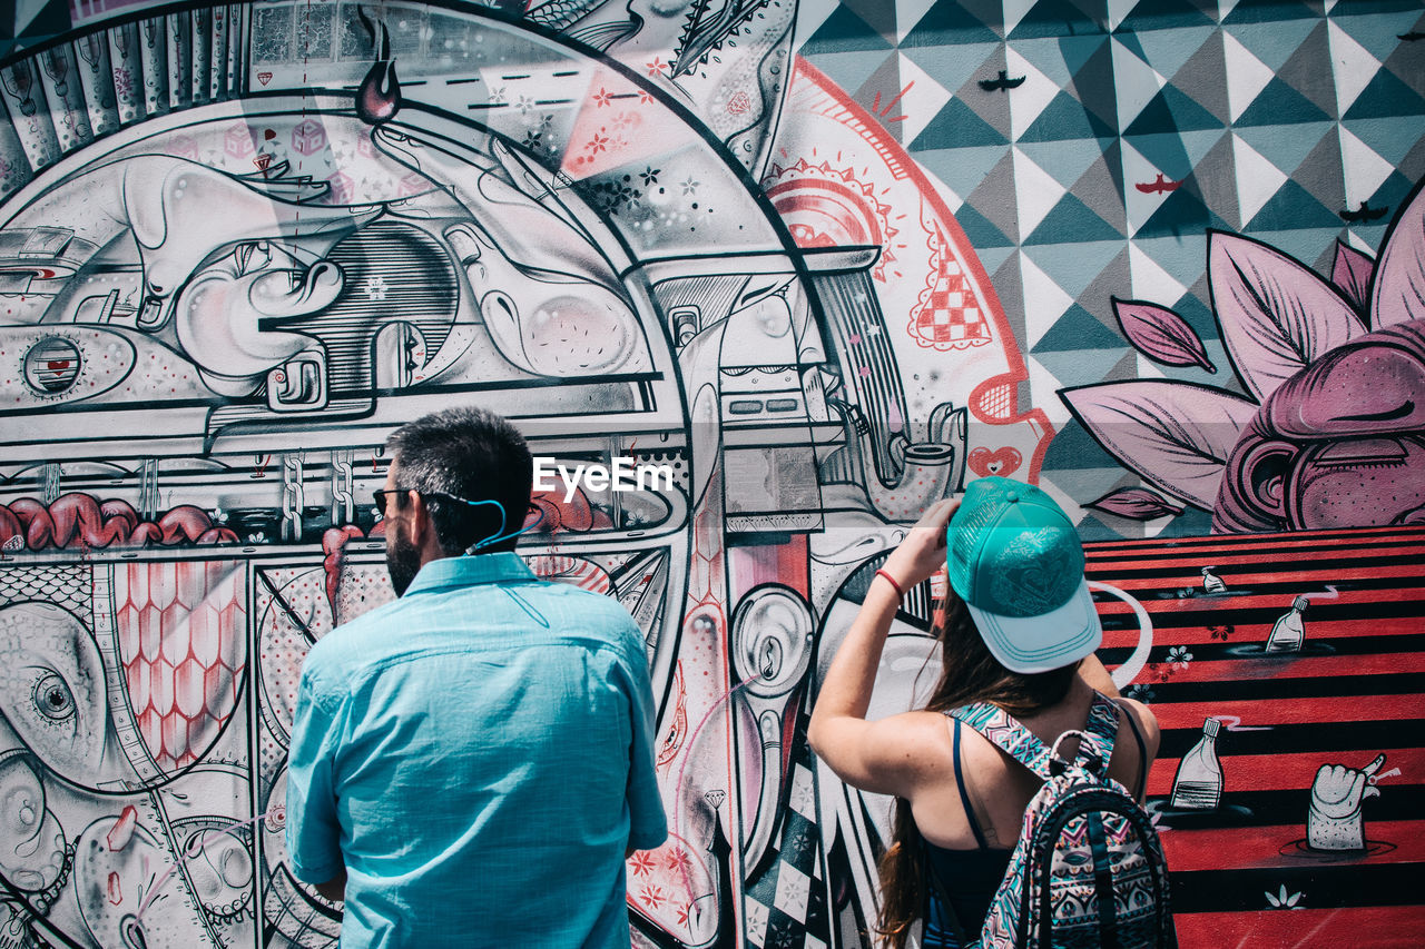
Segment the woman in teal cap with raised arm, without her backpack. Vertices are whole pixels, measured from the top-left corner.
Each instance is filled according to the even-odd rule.
[[[906,590],[946,570],[935,636],[942,674],[922,711],[866,721],[881,650]],[[882,945],[901,949],[925,916],[925,946],[973,939],[1040,787],[1027,768],[948,714],[976,701],[1017,718],[1046,745],[1082,730],[1094,690],[1116,698],[1109,777],[1143,798],[1159,747],[1153,714],[1119,698],[1093,655],[1103,633],[1073,523],[1037,487],[972,482],[932,506],[876,571],[812,710],[812,748],[846,784],[898,798],[881,861]],[[1077,740],[1060,754],[1073,759]]]

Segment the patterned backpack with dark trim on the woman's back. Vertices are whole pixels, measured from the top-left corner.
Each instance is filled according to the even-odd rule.
[[[983,949],[1176,949],[1163,846],[1143,807],[1109,778],[1117,705],[1094,694],[1086,731],[1046,748],[986,702],[955,718],[1012,755],[1045,785],[1025,809],[1019,844],[980,930]],[[1079,737],[1079,757],[1059,745]]]

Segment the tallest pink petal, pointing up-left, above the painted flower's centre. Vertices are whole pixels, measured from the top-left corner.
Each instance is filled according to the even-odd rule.
[[[1365,332],[1335,288],[1265,244],[1214,231],[1207,271],[1223,342],[1258,400]]]

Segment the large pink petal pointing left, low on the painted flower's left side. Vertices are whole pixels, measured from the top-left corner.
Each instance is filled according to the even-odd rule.
[[[1064,389],[1079,422],[1124,467],[1211,510],[1227,455],[1257,406],[1223,389],[1139,379]]]

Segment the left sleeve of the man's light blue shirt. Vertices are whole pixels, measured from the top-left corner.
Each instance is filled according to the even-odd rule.
[[[292,875],[306,883],[325,883],[345,866],[332,784],[335,725],[304,664],[286,762],[286,852]]]

